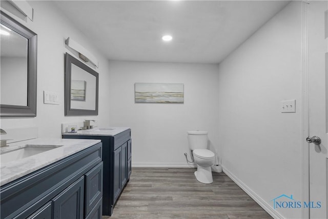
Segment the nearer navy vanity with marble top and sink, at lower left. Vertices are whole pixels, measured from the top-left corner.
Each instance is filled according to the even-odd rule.
[[[99,140],[36,138],[0,150],[1,218],[101,219]]]

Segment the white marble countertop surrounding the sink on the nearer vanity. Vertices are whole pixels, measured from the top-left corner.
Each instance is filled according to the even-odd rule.
[[[16,142],[9,147],[2,147],[1,154],[7,151],[16,150],[23,147],[54,147],[49,151],[28,156],[16,161],[0,164],[0,185],[5,185],[19,177],[25,176],[40,168],[48,166],[69,155],[84,150],[92,145],[101,142],[100,140],[81,140],[81,139],[43,139],[35,138],[32,140]]]

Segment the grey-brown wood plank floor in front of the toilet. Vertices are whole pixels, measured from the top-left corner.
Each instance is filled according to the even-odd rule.
[[[226,174],[199,183],[194,168],[132,168],[130,182],[111,217],[116,218],[272,218]]]

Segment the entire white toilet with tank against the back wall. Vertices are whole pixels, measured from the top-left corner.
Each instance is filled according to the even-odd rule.
[[[188,131],[189,148],[193,153],[197,171],[196,179],[205,184],[213,183],[211,166],[214,164],[214,153],[207,149],[207,131]]]

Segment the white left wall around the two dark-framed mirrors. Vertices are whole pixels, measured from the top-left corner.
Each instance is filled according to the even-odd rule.
[[[92,45],[91,39],[86,38],[50,1],[31,1],[34,8],[34,21],[26,21],[11,14],[37,33],[37,116],[35,118],[1,118],[3,129],[36,126],[39,137],[61,137],[60,124],[67,122],[82,122],[84,119],[95,119],[98,125],[107,126],[109,123],[108,98],[109,64],[107,58],[99,53]],[[72,53],[65,47],[65,39],[72,37],[83,45],[99,61],[99,115],[98,116],[64,116],[64,54]],[[83,62],[83,61],[82,61]],[[58,94],[59,105],[43,104],[43,91]]]

